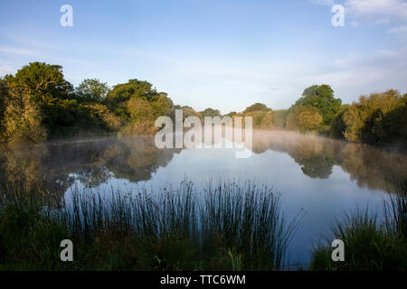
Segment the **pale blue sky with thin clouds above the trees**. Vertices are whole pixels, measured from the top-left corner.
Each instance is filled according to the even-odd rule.
[[[73,27],[60,25],[65,4]],[[30,61],[61,64],[74,85],[145,79],[197,110],[287,108],[322,83],[350,103],[407,92],[407,1],[0,0],[0,76]]]

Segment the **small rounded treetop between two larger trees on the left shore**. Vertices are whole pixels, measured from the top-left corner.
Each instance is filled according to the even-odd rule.
[[[84,102],[102,102],[108,95],[109,86],[98,79],[84,79],[76,88],[76,97]]]

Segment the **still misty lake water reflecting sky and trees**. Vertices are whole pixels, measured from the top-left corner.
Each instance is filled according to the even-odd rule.
[[[407,175],[407,154],[287,132],[254,132],[253,154],[233,149],[157,149],[134,136],[0,147],[2,190],[43,191],[63,206],[72,190],[160,191],[180,182],[199,190],[213,180],[255,182],[279,191],[289,219],[305,212],[289,262],[307,264],[310,249],[344,210],[381,210],[394,176]]]

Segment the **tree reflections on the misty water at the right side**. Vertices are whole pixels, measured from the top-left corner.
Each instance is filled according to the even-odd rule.
[[[407,154],[395,149],[289,132],[254,132],[254,153],[267,150],[289,154],[311,178],[327,179],[339,165],[359,187],[370,190],[386,191],[395,176],[407,176]]]

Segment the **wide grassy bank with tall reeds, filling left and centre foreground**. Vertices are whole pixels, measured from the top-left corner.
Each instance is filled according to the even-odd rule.
[[[279,270],[298,219],[250,182],[159,193],[74,191],[64,209],[4,197],[1,270]],[[62,262],[62,239],[74,261]]]

